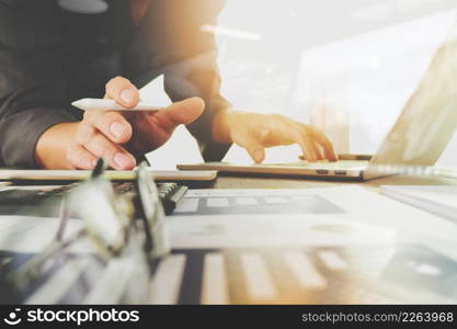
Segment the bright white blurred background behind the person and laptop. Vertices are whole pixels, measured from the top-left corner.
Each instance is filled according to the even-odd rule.
[[[222,95],[236,110],[281,113],[322,128],[340,152],[373,154],[457,22],[455,0],[227,0],[215,33]],[[457,78],[457,77],[456,77]],[[142,91],[170,100],[162,79]],[[296,161],[296,146],[266,161]],[[439,160],[457,166],[457,138]],[[184,127],[149,155],[152,167],[201,162]],[[251,162],[233,146],[225,158]]]

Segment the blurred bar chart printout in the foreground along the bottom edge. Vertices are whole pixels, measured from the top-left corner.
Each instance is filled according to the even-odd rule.
[[[357,251],[358,250],[358,251]],[[397,304],[455,303],[457,262],[422,246],[173,250],[152,266],[149,304]],[[0,253],[0,261],[28,258]],[[381,265],[374,258],[384,258]],[[26,303],[100,304],[125,300],[132,264],[101,266],[67,260],[27,290]],[[369,268],[372,273],[367,273]],[[70,275],[69,275],[70,274]],[[115,284],[114,284],[115,283]],[[415,294],[419,291],[419,294]],[[422,299],[421,299],[422,298]],[[423,299],[423,298],[426,298]]]

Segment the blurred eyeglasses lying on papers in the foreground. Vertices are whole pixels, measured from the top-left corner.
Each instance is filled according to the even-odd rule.
[[[103,259],[138,253],[140,250],[146,262],[150,263],[169,253],[170,245],[163,223],[165,215],[155,180],[146,168],[146,163],[141,163],[136,169],[137,197],[133,200],[128,194],[115,193],[112,183],[104,178],[105,162],[99,160],[91,178],[64,197],[59,227],[53,241],[42,253],[12,273],[11,281],[16,290],[25,290],[39,277],[49,259],[82,238],[89,238],[95,253]],[[139,218],[135,218],[135,213]],[[70,214],[81,218],[84,225],[64,237]]]

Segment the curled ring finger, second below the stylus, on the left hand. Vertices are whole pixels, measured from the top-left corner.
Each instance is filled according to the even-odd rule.
[[[127,170],[136,166],[134,156],[100,133],[94,133],[84,147],[95,157],[103,158],[114,169]]]

